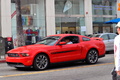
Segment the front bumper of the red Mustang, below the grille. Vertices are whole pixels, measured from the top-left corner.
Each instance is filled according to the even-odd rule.
[[[31,57],[6,57],[6,62],[12,67],[32,66],[33,59]]]

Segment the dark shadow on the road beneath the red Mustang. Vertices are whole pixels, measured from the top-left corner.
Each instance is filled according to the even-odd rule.
[[[96,64],[102,64],[102,62],[98,61]],[[63,69],[63,68],[72,68],[72,67],[82,67],[82,66],[89,66],[89,65],[96,65],[96,64],[87,64],[84,61],[79,61],[79,62],[63,62],[63,63],[54,63],[50,64],[50,66],[42,71],[46,70],[56,70],[56,69]],[[33,68],[21,68],[21,69],[16,69],[18,71],[36,71]]]

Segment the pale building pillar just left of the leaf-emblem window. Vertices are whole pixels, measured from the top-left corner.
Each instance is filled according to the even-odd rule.
[[[46,0],[46,32],[47,35],[55,34],[55,1]]]

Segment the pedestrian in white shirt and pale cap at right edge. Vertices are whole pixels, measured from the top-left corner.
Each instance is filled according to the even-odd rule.
[[[118,35],[114,39],[114,61],[113,80],[120,80],[120,22],[116,25]]]

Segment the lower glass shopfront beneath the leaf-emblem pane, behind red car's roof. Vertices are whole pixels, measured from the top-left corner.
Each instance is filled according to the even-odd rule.
[[[82,17],[56,17],[56,34],[82,34],[81,26],[84,26]]]

